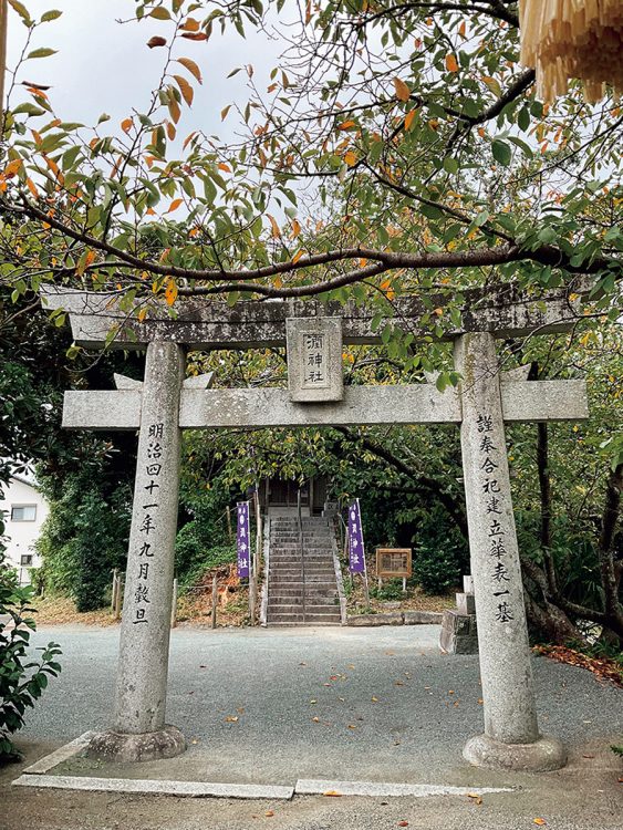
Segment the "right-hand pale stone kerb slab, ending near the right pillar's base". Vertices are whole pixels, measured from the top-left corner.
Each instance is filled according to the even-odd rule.
[[[298,796],[485,796],[492,792],[512,792],[508,787],[446,787],[435,784],[382,784],[377,781],[323,781],[320,779],[299,780],[294,787]]]

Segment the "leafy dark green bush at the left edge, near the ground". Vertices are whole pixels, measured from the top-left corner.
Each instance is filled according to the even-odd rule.
[[[24,725],[27,708],[34,706],[50,677],[61,671],[56,643],[38,649],[38,658],[29,656],[31,632],[35,630],[30,614],[33,589],[20,588],[14,574],[0,564],[0,762],[19,758],[11,736]]]

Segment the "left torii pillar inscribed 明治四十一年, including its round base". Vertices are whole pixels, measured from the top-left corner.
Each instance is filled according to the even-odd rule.
[[[115,715],[113,728],[91,740],[90,756],[154,760],[186,748],[181,732],[165,724],[184,370],[176,343],[148,344]]]

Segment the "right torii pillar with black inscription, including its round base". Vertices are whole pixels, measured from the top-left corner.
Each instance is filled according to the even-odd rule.
[[[485,708],[485,734],[463,754],[480,767],[559,769],[564,747],[540,735],[537,723],[494,336],[461,335],[455,365],[463,375],[460,442]]]

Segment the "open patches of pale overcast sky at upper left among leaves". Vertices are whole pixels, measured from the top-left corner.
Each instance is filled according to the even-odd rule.
[[[117,23],[118,19],[133,17],[134,0],[24,0],[24,4],[35,19],[50,9],[63,11],[59,20],[38,29],[32,43],[33,49],[51,46],[59,54],[28,61],[18,75],[19,82],[51,84],[53,89],[48,94],[60,117],[90,125],[106,112],[118,124],[132,114],[133,107],[147,108],[149,92],[160,76],[165,50],[149,50],[146,42],[155,34],[167,37],[170,24],[153,19]],[[20,19],[10,10],[10,69],[23,48],[24,33]],[[225,135],[229,125],[221,124],[220,111],[232,98],[247,100],[246,74],[226,81],[227,74],[238,65],[252,63],[256,81],[261,81],[260,89],[262,85],[266,89],[279,50],[261,32],[249,32],[242,40],[233,30],[221,37],[215,28],[209,41],[181,41],[176,54],[196,61],[204,75],[204,86],[196,89],[191,113],[184,107],[180,133],[201,127]],[[180,66],[176,72],[187,74]],[[7,86],[10,81],[11,76]],[[14,106],[23,97],[28,93],[20,90],[11,104]]]

